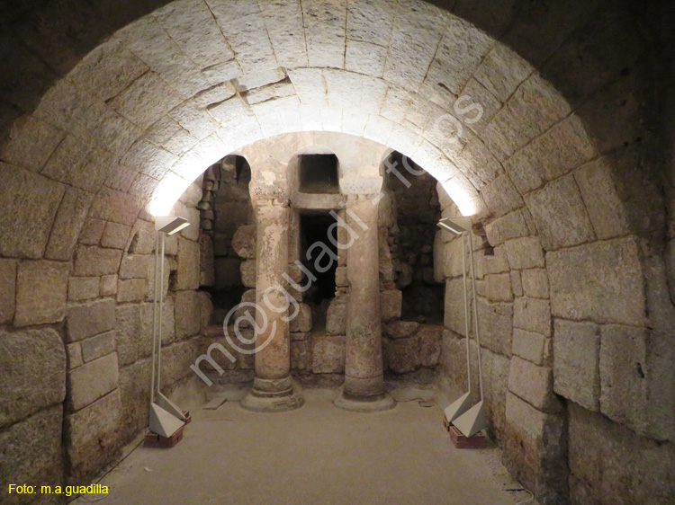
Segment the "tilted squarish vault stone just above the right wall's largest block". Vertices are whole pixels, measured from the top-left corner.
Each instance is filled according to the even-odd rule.
[[[572,175],[549,182],[526,197],[547,249],[569,247],[595,239],[589,214]]]

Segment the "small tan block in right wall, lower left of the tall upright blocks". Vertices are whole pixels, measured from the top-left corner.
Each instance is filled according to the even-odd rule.
[[[560,412],[561,403],[554,396],[551,368],[538,367],[518,356],[511,358],[509,390],[542,412]]]

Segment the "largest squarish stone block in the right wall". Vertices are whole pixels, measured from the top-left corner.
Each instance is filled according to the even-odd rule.
[[[644,277],[634,239],[556,251],[546,254],[546,261],[553,315],[596,323],[644,322]]]

